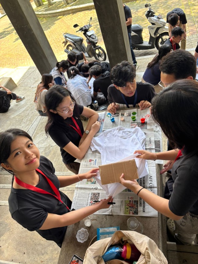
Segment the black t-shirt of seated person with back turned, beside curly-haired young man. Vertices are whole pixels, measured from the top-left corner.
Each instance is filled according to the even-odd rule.
[[[104,97],[107,99],[107,89],[111,84],[110,72],[104,72],[100,77],[94,80],[94,92],[98,93],[98,90],[100,89],[101,93],[103,93]]]

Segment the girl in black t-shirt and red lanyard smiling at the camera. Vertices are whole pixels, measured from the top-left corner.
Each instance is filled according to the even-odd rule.
[[[0,133],[0,164],[13,175],[8,199],[12,218],[60,247],[68,225],[109,207],[111,198],[70,212],[72,202],[59,188],[90,179],[98,169],[57,177],[51,161],[40,156],[31,136],[21,129]]]

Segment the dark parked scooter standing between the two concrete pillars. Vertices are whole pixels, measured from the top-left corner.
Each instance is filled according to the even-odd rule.
[[[91,20],[92,20],[92,17],[90,17],[90,21]],[[85,57],[87,58],[94,57],[96,60],[103,62],[106,60],[107,55],[104,49],[101,48],[101,46],[96,45],[98,42],[98,38],[94,34],[95,33],[94,30],[89,31],[90,27],[92,26],[90,25],[90,21],[89,21],[89,24],[80,27],[80,29],[76,31],[76,32],[78,31],[83,32],[83,35],[86,37],[87,48],[85,47],[85,44],[83,43],[82,37],[69,34],[69,33],[63,34],[63,37],[65,40],[63,41],[62,44],[64,44],[64,47],[65,47],[67,43],[69,43],[65,49],[65,52],[67,54],[71,51],[75,53],[79,53],[83,51],[85,54]],[[78,24],[73,25],[74,28],[78,26],[79,26]]]

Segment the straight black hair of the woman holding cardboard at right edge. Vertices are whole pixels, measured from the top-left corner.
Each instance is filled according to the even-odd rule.
[[[175,52],[175,51],[174,51]],[[152,100],[152,116],[171,146],[186,157],[198,155],[198,82],[171,83]]]

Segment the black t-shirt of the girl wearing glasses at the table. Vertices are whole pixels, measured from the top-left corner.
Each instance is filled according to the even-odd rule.
[[[80,114],[83,112],[83,106],[82,105],[77,105],[79,108]],[[75,106],[76,107],[76,106]],[[75,117],[74,117],[75,118]],[[83,123],[80,120],[80,117],[76,117],[76,122],[80,127],[80,130],[82,134],[84,133],[84,128],[83,128]],[[78,147],[79,142],[80,142],[80,135],[76,132],[74,128],[72,128],[70,125],[73,127],[76,127],[74,122],[72,121],[72,118],[66,118],[62,119],[59,118],[58,116],[58,121],[53,122],[49,129],[49,135],[51,138],[54,140],[54,142],[60,147],[61,150],[61,155],[62,155],[62,161],[65,164],[69,164],[74,162],[76,160],[75,157],[67,153],[63,148],[69,143],[72,142],[74,145]]]

